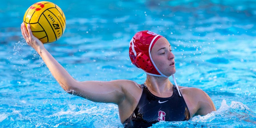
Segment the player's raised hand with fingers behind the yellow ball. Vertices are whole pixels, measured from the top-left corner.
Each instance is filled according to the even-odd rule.
[[[35,50],[37,50],[39,47],[44,47],[43,43],[32,34],[30,24],[28,24],[27,26],[28,27],[26,28],[26,25],[24,23],[21,24],[21,33],[28,45]]]

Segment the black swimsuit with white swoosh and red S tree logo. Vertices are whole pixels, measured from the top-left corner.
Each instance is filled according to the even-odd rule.
[[[123,123],[125,128],[147,128],[159,121],[189,120],[190,114],[184,98],[179,96],[173,85],[171,97],[162,98],[153,95],[148,88],[141,84],[142,95],[131,116]]]

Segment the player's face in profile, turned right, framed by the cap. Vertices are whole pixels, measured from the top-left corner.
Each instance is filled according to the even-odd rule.
[[[151,57],[161,73],[171,76],[176,72],[174,54],[171,52],[171,45],[166,38],[159,38],[151,50]]]

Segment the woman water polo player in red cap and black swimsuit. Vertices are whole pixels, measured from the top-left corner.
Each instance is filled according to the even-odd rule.
[[[150,127],[159,121],[184,121],[216,111],[211,98],[201,89],[177,86],[174,54],[161,35],[141,31],[130,42],[132,63],[147,73],[145,83],[138,84],[131,80],[77,81],[33,36],[29,24],[26,28],[22,23],[21,32],[66,92],[94,102],[117,104],[124,127]]]

